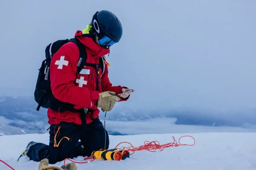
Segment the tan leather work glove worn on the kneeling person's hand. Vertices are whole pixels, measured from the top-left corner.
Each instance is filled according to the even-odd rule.
[[[99,100],[97,107],[102,108],[104,111],[111,111],[116,102],[119,102],[120,98],[115,96],[115,92],[105,91],[99,94]]]

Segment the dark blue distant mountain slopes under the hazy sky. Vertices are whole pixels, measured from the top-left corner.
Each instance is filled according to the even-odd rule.
[[[0,136],[25,133],[46,133],[47,109],[36,111],[33,97],[0,97]],[[197,111],[193,109],[170,109],[168,111],[132,109],[117,104],[112,111],[100,113],[100,119],[118,122],[140,122],[156,118],[175,118],[177,125],[232,126],[256,129],[256,110],[234,111],[231,113]],[[24,131],[24,132],[23,132]],[[120,134],[109,129],[111,134]],[[127,133],[124,133],[127,134]]]

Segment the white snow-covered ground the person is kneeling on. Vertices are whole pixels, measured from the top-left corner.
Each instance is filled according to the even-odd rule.
[[[122,161],[96,160],[88,164],[77,164],[78,170],[256,170],[256,133],[190,133],[190,134],[146,134],[129,136],[110,136],[110,147],[119,142],[130,142],[138,147],[144,141],[159,141],[160,144],[178,142],[181,136],[190,135],[195,138],[194,146],[169,147],[162,152],[151,153],[137,151],[130,158]],[[16,162],[28,142],[48,143],[49,135],[24,134],[0,136],[0,159],[6,161],[15,170],[37,170],[38,162],[28,161],[23,157]],[[182,144],[193,144],[193,139],[182,138]],[[124,146],[124,145],[122,145]],[[83,157],[75,158],[83,161]],[[69,162],[69,161],[67,161]],[[56,163],[61,166],[63,161]],[[103,168],[104,167],[104,168]],[[0,162],[0,170],[9,170]]]

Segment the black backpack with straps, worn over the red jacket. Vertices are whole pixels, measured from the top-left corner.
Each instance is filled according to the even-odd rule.
[[[35,101],[38,103],[37,111],[39,111],[40,107],[43,108],[50,108],[54,111],[73,111],[73,112],[81,112],[83,109],[74,109],[74,105],[67,102],[61,102],[56,99],[51,90],[51,82],[50,82],[50,63],[53,54],[55,54],[62,45],[66,44],[67,42],[74,42],[79,48],[79,62],[77,64],[77,73],[81,71],[84,65],[92,66],[96,69],[96,73],[98,72],[98,68],[102,68],[102,73],[104,71],[104,58],[100,59],[99,65],[87,63],[87,54],[84,49],[84,45],[77,38],[66,39],[66,40],[58,40],[55,42],[50,43],[45,49],[45,57],[46,59],[42,62],[41,68],[39,70],[38,79],[35,86]],[[97,79],[97,82],[98,79]],[[97,83],[97,90],[99,90],[99,83]]]

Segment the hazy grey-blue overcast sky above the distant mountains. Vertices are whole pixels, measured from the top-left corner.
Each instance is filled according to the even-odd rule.
[[[121,105],[255,107],[255,0],[1,0],[0,94],[33,96],[45,47],[102,9],[123,26],[110,80],[136,91]]]

